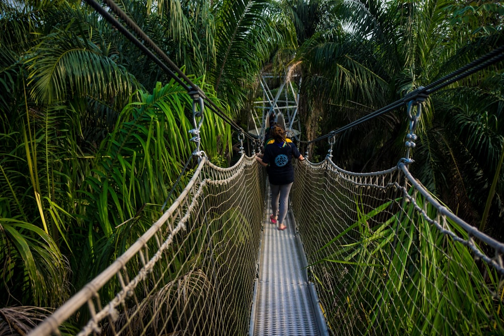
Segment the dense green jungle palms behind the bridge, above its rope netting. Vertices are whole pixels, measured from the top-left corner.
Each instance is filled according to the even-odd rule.
[[[119,4],[245,129],[262,69],[298,72],[308,140],[504,44],[497,1]],[[504,215],[502,65],[428,98],[411,167],[501,241],[502,225],[486,223]],[[334,161],[390,168],[404,155],[407,127],[403,109],[348,130]],[[191,128],[185,91],[85,3],[1,1],[0,308],[57,307],[127,249],[159,217],[193,151]],[[202,131],[210,160],[228,164],[229,125],[207,111]],[[317,144],[311,155],[325,151]]]

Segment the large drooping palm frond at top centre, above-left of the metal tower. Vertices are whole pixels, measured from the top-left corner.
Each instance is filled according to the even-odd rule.
[[[208,78],[232,106],[242,106],[243,89],[255,82],[275,44],[283,44],[266,15],[270,6],[267,1],[238,0],[219,2],[214,8],[216,54]]]

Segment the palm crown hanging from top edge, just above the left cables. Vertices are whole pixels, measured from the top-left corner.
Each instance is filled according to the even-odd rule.
[[[163,0],[124,6],[175,64],[186,73],[206,76],[234,115],[264,63],[288,36],[283,21],[277,20],[276,5],[268,0]]]

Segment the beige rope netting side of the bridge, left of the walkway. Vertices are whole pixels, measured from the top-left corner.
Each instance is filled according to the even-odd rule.
[[[202,158],[153,226],[30,335],[233,335],[249,328],[264,170]]]

